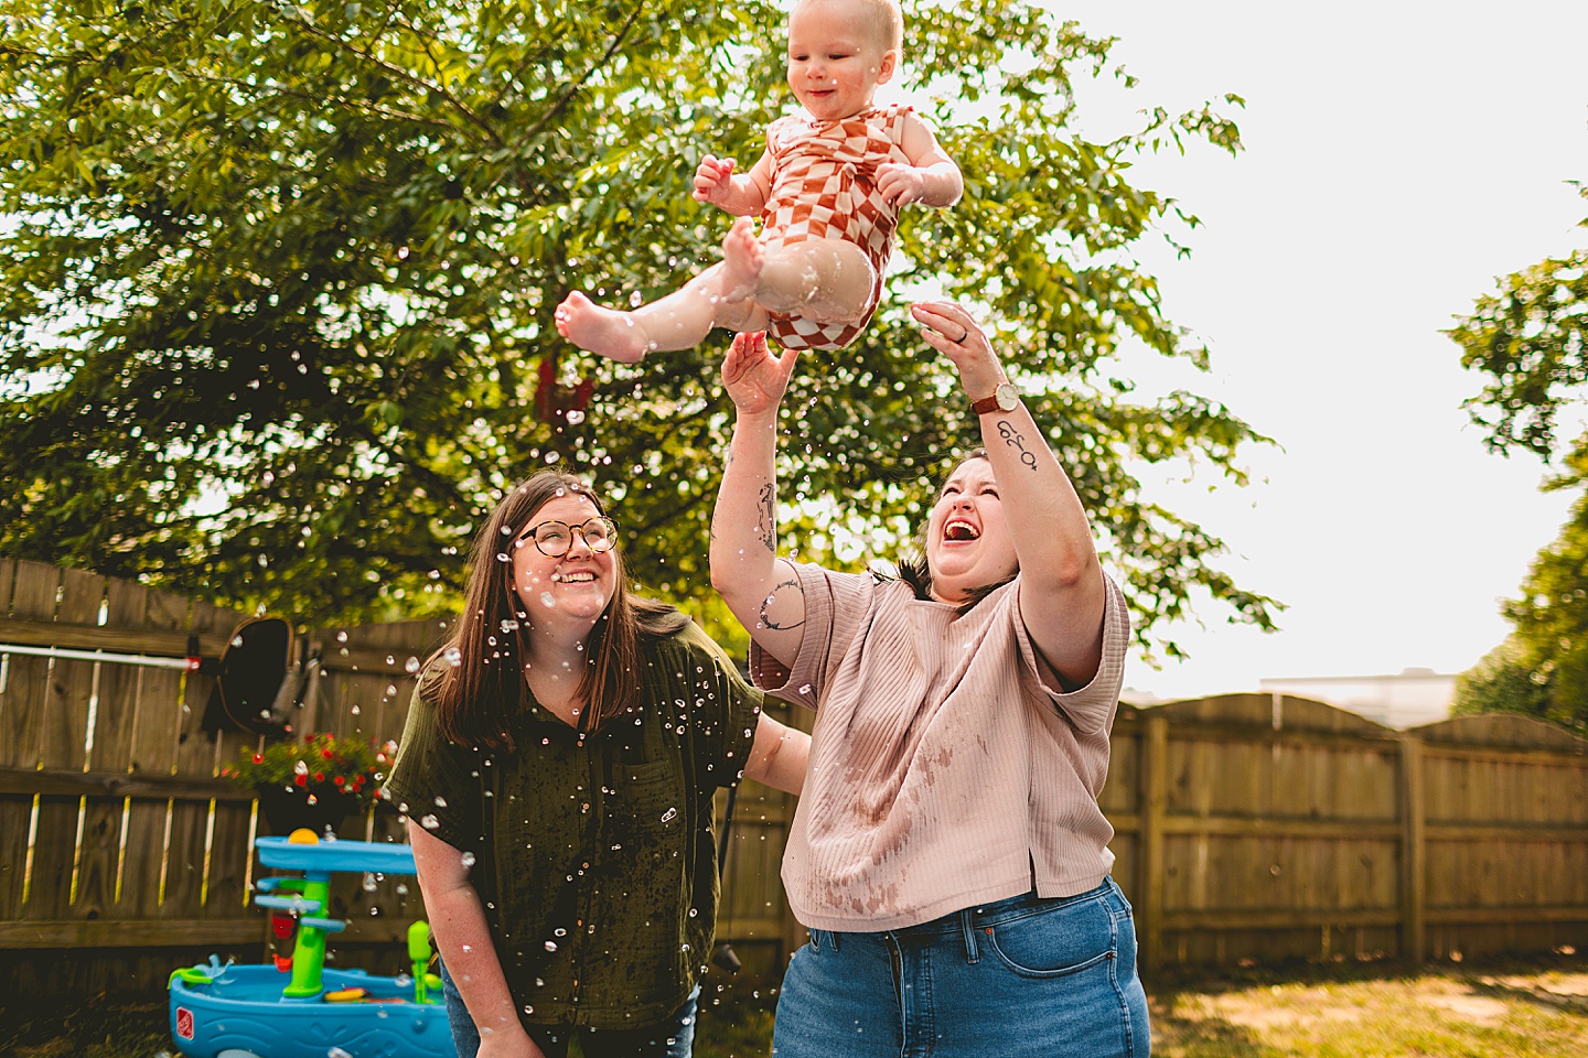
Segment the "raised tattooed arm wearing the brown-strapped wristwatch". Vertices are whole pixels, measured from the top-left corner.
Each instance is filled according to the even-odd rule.
[[[924,327],[927,344],[953,360],[967,400],[992,397],[1008,381],[992,343],[962,308],[923,301],[910,311]],[[1081,687],[1102,661],[1105,600],[1086,511],[1024,401],[1015,397],[980,419],[1019,558],[1021,620],[1042,658],[1066,684]]]

